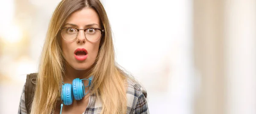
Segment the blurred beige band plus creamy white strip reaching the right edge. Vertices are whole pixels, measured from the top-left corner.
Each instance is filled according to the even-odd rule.
[[[194,114],[256,114],[256,0],[194,0]]]

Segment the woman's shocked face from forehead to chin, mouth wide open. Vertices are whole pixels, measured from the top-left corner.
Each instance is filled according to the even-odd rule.
[[[79,29],[100,28],[99,16],[93,9],[84,8],[71,14],[70,17],[67,18],[64,27],[74,27]],[[76,70],[87,70],[96,60],[100,39],[96,42],[86,40],[85,32],[83,30],[79,30],[75,40],[67,41],[63,39],[63,37],[68,39],[72,34],[74,35],[74,30],[75,29],[72,28],[62,30],[61,49],[67,63],[72,68]],[[86,32],[93,33],[93,31],[93,29],[88,29]],[[86,36],[89,35],[87,34]],[[92,36],[93,34],[91,34],[91,37]]]

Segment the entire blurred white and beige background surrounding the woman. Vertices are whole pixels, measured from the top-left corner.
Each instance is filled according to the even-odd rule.
[[[0,114],[17,114],[61,0],[0,0]],[[151,114],[256,114],[256,0],[102,0]]]

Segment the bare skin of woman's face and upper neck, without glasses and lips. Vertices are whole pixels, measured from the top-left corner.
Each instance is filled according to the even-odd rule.
[[[87,26],[89,24],[95,25]],[[84,8],[71,14],[65,22],[64,27],[76,27],[79,29],[85,29],[89,27],[100,28],[99,16],[93,9]],[[61,49],[67,61],[67,63],[65,63],[66,76],[70,78],[70,80],[73,80],[76,77],[88,77],[83,76],[83,74],[87,74],[88,70],[90,70],[91,66],[95,62],[99,51],[99,44],[100,40],[97,42],[90,42],[86,40],[84,31],[81,30],[79,31],[76,39],[73,41],[66,41],[61,38]],[[87,50],[88,53],[86,60],[80,61],[75,58],[74,51],[77,48],[85,48]]]

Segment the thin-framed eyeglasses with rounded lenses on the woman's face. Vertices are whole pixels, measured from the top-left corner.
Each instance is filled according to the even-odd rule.
[[[100,39],[102,34],[105,32],[104,29],[99,28],[85,28],[85,29],[79,29],[74,27],[64,27],[61,28],[61,36],[64,40],[72,41],[75,40],[79,30],[84,31],[85,38],[90,42],[96,42]]]

